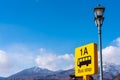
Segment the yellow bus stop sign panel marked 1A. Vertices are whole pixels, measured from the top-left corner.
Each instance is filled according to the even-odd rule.
[[[98,73],[98,54],[95,43],[75,49],[75,76],[93,75]]]

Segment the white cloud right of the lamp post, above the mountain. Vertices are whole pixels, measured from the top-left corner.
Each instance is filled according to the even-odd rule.
[[[120,38],[113,41],[113,45],[103,49],[103,61],[120,65]]]

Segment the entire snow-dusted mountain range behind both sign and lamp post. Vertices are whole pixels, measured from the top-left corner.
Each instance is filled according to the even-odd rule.
[[[114,80],[120,74],[120,65],[113,63],[104,63],[104,80]],[[22,70],[8,78],[0,78],[0,80],[69,80],[69,75],[74,75],[74,69],[50,71],[39,67],[32,67]],[[94,75],[95,80],[99,80],[98,75]]]

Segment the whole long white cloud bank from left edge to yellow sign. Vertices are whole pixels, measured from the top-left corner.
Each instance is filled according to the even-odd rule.
[[[44,48],[40,48],[38,51],[39,54],[23,44],[8,46],[5,51],[0,50],[0,76],[10,76],[36,65],[50,70],[73,68],[72,54],[55,55]]]

